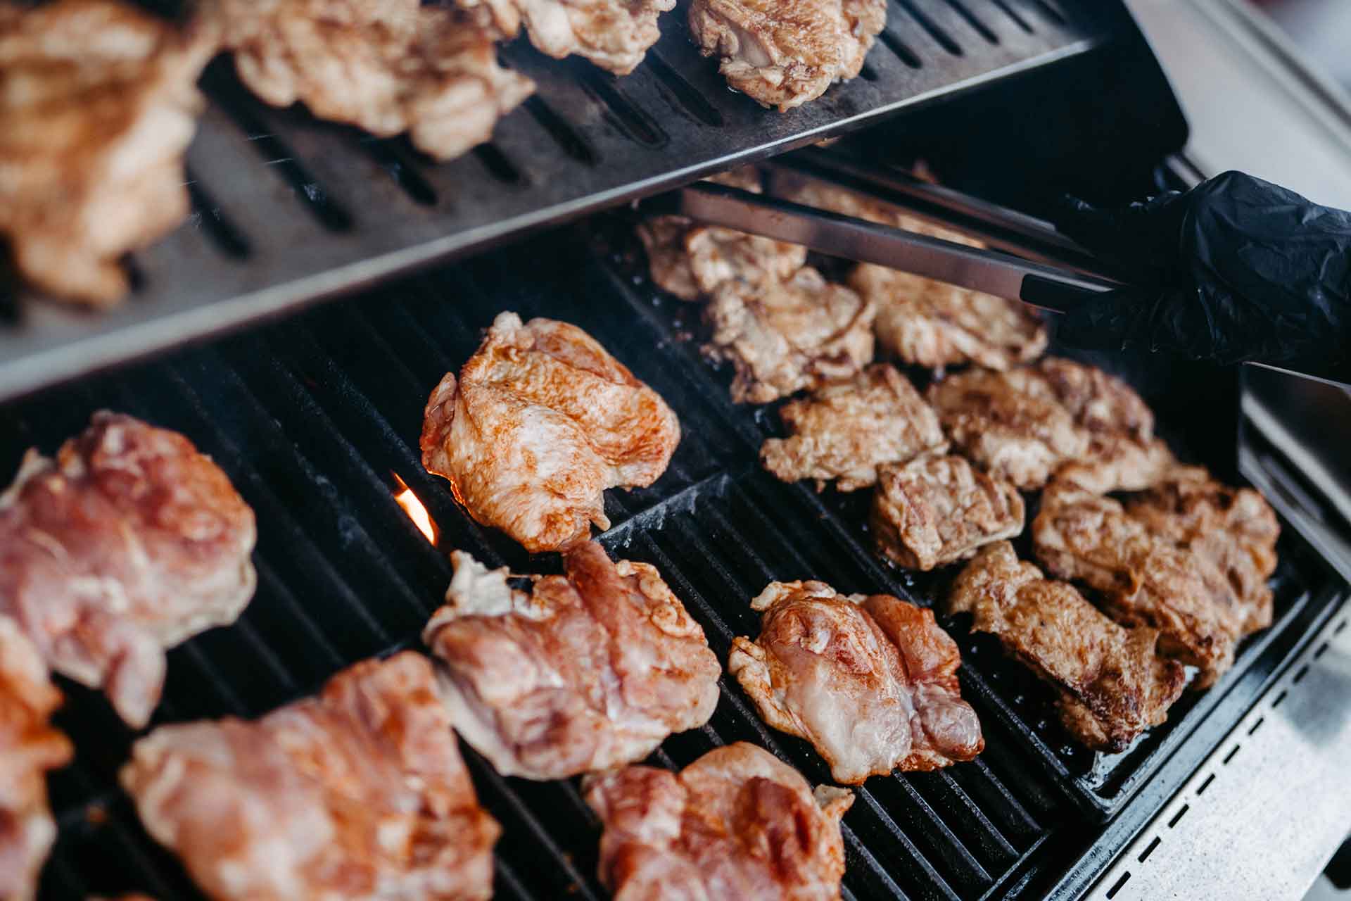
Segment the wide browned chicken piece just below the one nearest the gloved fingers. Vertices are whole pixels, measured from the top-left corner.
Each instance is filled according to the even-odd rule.
[[[1109,467],[1120,488],[1140,489],[1171,461],[1129,385],[1067,359],[948,376],[928,401],[958,453],[1024,489],[1070,461]]]

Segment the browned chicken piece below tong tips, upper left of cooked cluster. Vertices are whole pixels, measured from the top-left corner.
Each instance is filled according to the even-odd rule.
[[[704,308],[704,353],[736,366],[732,400],[767,404],[852,378],[873,359],[873,305],[802,266],[788,281],[723,282]]]

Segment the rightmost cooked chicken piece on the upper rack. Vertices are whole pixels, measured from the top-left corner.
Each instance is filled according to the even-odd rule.
[[[735,91],[786,112],[855,77],[886,26],[881,0],[694,0],[689,27]]]

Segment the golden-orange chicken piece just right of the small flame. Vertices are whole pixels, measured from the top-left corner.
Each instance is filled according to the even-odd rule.
[[[476,520],[554,551],[609,528],[603,492],[651,485],[678,442],[666,401],[594,338],[499,313],[427,400],[422,455]]]

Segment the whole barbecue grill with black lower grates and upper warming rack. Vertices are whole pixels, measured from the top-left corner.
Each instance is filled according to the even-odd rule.
[[[902,109],[900,128],[871,130],[836,162],[874,166],[867,150],[885,143],[893,157],[959,157],[967,165],[954,166],[950,184],[985,196],[1013,195],[1047,170],[1074,186],[1074,166],[1061,165],[1067,154],[1046,155],[1092,143],[1084,132],[1046,127],[1055,118],[1078,122],[1055,105],[1070,95],[1116,116],[1109,134],[1139,136],[1140,122],[1163,123],[1128,147],[1105,140],[1097,145],[1102,154],[1088,154],[1096,182],[1115,178],[1116,188],[1138,195],[1182,142],[1181,119],[1163,122],[1173,109],[1166,92],[1123,88],[1156,80],[1156,65],[1111,3],[892,0],[888,31],[863,76],[780,115],[727,92],[690,47],[682,11],[662,24],[659,45],[624,80],[576,61],[546,61],[520,42],[505,49],[508,65],[536,80],[539,96],[508,116],[490,145],[443,166],[403,140],[265,108],[218,61],[203,82],[211,107],[189,153],[196,213],[128,262],[136,276],[130,303],[100,317],[28,299],[12,307],[0,326],[0,398],[8,401],[0,407],[0,471],[14,471],[28,446],[50,451],[107,407],[188,435],[258,513],[257,596],[235,625],[169,654],[154,724],[255,717],[313,693],[349,663],[417,647],[450,580],[453,548],[515,571],[557,566],[474,524],[447,484],[422,469],[416,447],[428,390],[504,309],[581,326],[680,415],[684,439],[670,469],[648,489],[607,494],[613,528],[600,540],[616,557],[655,565],[721,659],[735,635],[758,632],[748,600],[770,580],[819,578],[921,605],[939,597],[944,575],[904,574],[873,554],[865,497],[816,494],[759,469],[758,448],[778,430],[774,409],[731,404],[730,371],[698,354],[697,308],[646,280],[624,215],[554,227],[509,251],[488,246]],[[1098,72],[1101,58],[1109,62]],[[1015,73],[1027,74],[1006,77]],[[997,84],[955,104],[934,103],[984,82]],[[962,135],[955,123],[963,118],[989,124],[989,132]],[[1031,161],[1015,158],[1019,143],[1031,147]],[[824,159],[811,151],[789,165],[809,172]],[[1159,168],[1178,170],[1188,170],[1185,161]],[[904,188],[900,176],[889,184]],[[453,255],[466,259],[405,272]],[[394,274],[399,281],[390,281]],[[351,303],[70,381],[377,281]],[[1232,384],[1196,367],[1161,370],[1158,361],[1092,362],[1140,389],[1183,457],[1235,477],[1232,423],[1223,413],[1197,416],[1225,407],[1236,416]],[[58,381],[66,384],[51,386]],[[435,547],[393,500],[404,482],[439,527]],[[1327,565],[1327,548],[1282,525],[1273,627],[1242,646],[1220,686],[1183,697],[1167,724],[1123,754],[1075,746],[1046,686],[993,639],[969,635],[962,620],[942,620],[961,644],[963,696],[981,717],[986,750],[944,771],[869,781],[844,819],[846,897],[1061,900],[1090,889],[1116,901],[1147,897],[1132,896],[1131,871],[1121,870],[1123,860],[1133,867],[1139,887],[1136,858],[1119,852],[1133,854],[1132,842],[1173,829],[1186,812],[1174,793],[1206,773],[1236,724],[1247,729],[1263,704],[1281,704],[1282,686],[1308,670],[1288,674],[1310,635],[1336,628],[1337,617],[1346,625],[1337,613],[1344,582]],[[684,766],[744,739],[812,782],[828,781],[807,743],[767,729],[735,684],[724,679],[708,727],[673,736],[653,763]],[[77,756],[49,781],[59,838],[42,897],[130,889],[199,897],[116,785],[135,736],[101,696],[69,682],[62,689],[68,700],[57,725]],[[1270,701],[1273,692],[1279,694]],[[465,752],[481,801],[504,827],[497,897],[605,898],[594,877],[598,824],[577,779],[501,778]],[[1166,825],[1155,820],[1161,810]],[[1139,852],[1139,865],[1159,840]]]

